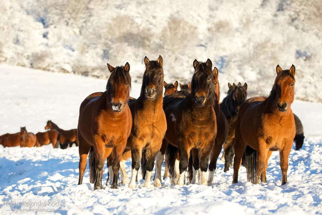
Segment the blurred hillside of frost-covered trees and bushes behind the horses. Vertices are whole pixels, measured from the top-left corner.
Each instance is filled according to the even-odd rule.
[[[210,58],[227,83],[268,95],[279,64],[296,67],[296,99],[322,102],[321,0],[0,0],[0,63],[107,78],[144,56],[164,59],[165,81],[188,83]]]

